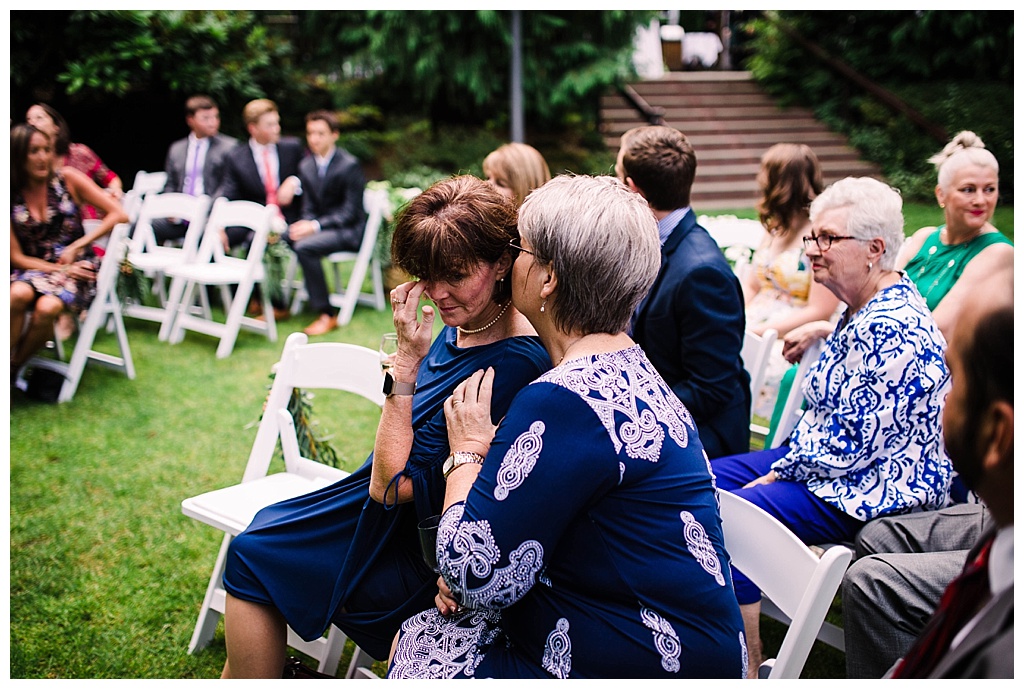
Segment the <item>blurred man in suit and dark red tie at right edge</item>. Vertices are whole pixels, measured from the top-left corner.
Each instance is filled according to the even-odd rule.
[[[990,275],[968,298],[977,306],[959,317],[946,350],[952,387],[943,407],[942,433],[953,468],[981,499],[994,524],[984,529],[966,559],[961,552],[961,571],[952,582],[942,567],[934,566],[943,554],[927,548],[901,558],[879,554],[854,562],[847,576],[859,584],[851,587],[844,580],[843,587],[844,620],[851,628],[848,645],[877,647],[876,636],[894,639],[890,628],[916,627],[916,640],[909,648],[897,649],[903,658],[889,677],[1014,677],[1014,381],[1009,374],[1014,368],[1013,270]],[[962,530],[970,530],[981,514],[967,509],[959,517],[942,512],[910,515],[931,526],[915,530],[931,537],[953,519],[966,522]],[[900,518],[893,519],[898,526]],[[862,566],[878,562],[888,567]],[[886,582],[862,582],[857,572],[863,571],[885,573]],[[916,607],[902,601],[904,587],[918,588],[920,582],[928,588],[938,585],[940,591],[948,583],[924,623],[915,617]]]

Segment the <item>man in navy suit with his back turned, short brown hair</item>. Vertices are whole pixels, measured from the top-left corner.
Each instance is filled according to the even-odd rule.
[[[743,294],[689,207],[693,147],[671,127],[637,127],[623,134],[615,172],[647,200],[662,235],[662,269],[634,314],[633,339],[693,416],[708,457],[746,453]]]

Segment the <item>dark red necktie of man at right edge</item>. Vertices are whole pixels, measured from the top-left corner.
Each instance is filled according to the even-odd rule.
[[[946,587],[935,614],[893,672],[893,678],[927,678],[949,652],[953,637],[989,598],[988,553],[993,540],[982,546],[978,556]]]

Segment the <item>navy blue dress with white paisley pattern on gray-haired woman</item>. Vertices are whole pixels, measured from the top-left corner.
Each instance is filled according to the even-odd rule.
[[[711,467],[638,346],[513,399],[437,551],[462,609],[406,620],[389,677],[745,675]]]

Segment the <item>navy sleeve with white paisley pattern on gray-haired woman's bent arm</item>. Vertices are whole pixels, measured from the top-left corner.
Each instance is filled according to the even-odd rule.
[[[590,407],[559,386],[528,386],[466,502],[441,518],[440,570],[455,597],[477,609],[518,601],[543,576],[568,524],[617,481],[615,454]]]

